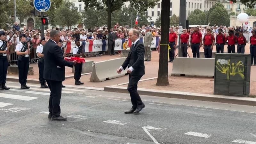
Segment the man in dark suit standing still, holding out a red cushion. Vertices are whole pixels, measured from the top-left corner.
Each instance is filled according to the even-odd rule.
[[[52,30],[42,53],[44,54],[44,79],[51,90],[48,119],[65,121],[67,118],[60,116],[61,83],[65,80],[65,66],[73,68],[76,61],[64,60],[60,47],[57,45],[59,40],[60,32]]]

